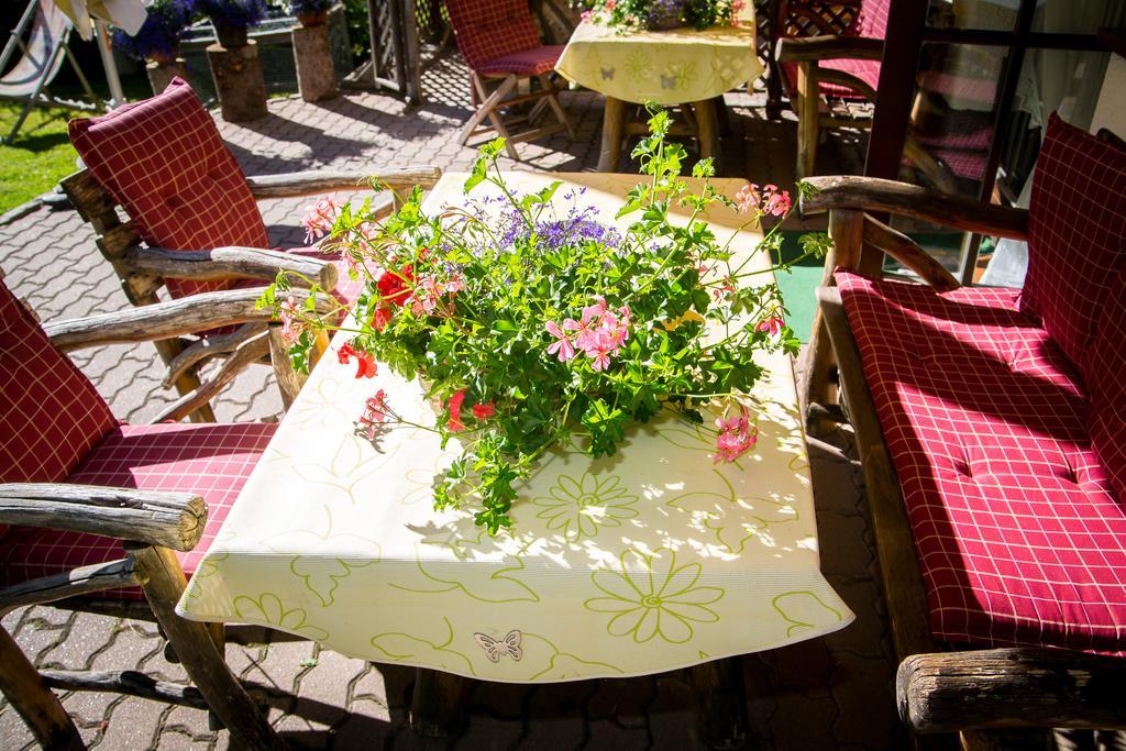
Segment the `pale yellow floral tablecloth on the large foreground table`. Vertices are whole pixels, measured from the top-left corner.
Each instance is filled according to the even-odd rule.
[[[583,200],[608,221],[636,180],[510,177],[519,190],[555,177],[588,186]],[[462,200],[463,180],[444,177],[428,211]],[[729,195],[741,185],[718,181]],[[718,207],[721,242],[724,225],[738,220]],[[357,381],[330,354],[178,611],[377,662],[538,682],[660,672],[837,631],[854,616],[819,571],[793,369],[784,356],[762,365],[758,446],[736,464],[713,464],[714,439],[694,427],[656,420],[611,458],[548,456],[520,489],[513,531],[490,538],[470,513],[434,510],[431,481],[452,458],[434,433],[396,429],[381,450],[354,433],[376,388],[406,419],[432,423],[418,383],[387,368]]]

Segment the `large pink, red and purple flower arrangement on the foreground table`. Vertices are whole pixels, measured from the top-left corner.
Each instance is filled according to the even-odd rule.
[[[720,203],[751,226],[784,217],[789,195],[749,185],[732,200],[712,185],[711,160],[694,168],[692,191],[680,178],[683,147],[665,141],[669,127],[668,114],[654,110],[651,135],[633,152],[646,179],[615,217],[632,218],[624,231],[582,206],[582,190],[556,196],[557,181],[515,193],[497,166],[502,140],[481,149],[465,206],[426,215],[415,189],[382,223],[368,204],[322,200],[310,212],[310,236],[329,233],[366,281],[343,324],[352,336],[338,348],[340,361],[354,364],[357,378],[376,378],[377,361],[418,376],[439,405],[435,424],[408,422],[373,388],[357,432],[377,441],[406,424],[462,446],[435,484],[436,508],[470,508],[495,534],[511,525],[516,482],[545,452],[613,455],[631,423],[659,414],[711,429],[704,410],[722,413],[717,462],[753,448],[748,393],[761,368],[752,355],[793,354],[798,340],[774,277],[734,253],[731,240],[720,243],[700,215]],[[676,207],[690,213],[686,224],[672,221]],[[756,251],[779,240],[771,230]],[[802,243],[821,254],[828,238]],[[279,276],[259,304],[280,315],[294,364],[307,367],[314,330],[334,327],[313,316],[311,303],[295,305],[289,284]]]

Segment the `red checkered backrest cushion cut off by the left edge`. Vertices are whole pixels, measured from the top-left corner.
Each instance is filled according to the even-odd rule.
[[[115,427],[93,384],[0,283],[0,482],[57,482]]]

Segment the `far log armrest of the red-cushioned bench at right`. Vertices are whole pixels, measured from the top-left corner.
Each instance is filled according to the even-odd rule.
[[[802,196],[803,215],[832,208],[888,212],[966,232],[1016,240],[1028,238],[1028,211],[1024,208],[986,204],[906,182],[870,177],[811,177],[805,182],[815,188],[815,191]]]

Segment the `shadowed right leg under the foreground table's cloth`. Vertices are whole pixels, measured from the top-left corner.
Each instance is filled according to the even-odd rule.
[[[714,660],[688,670],[696,692],[700,737],[711,749],[741,749],[747,742],[747,699],[739,658]]]

